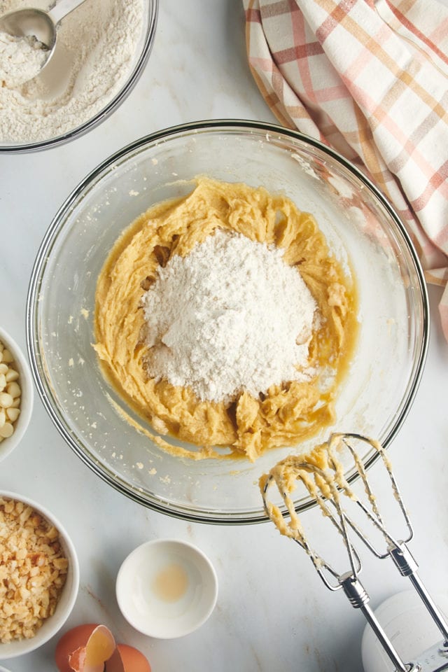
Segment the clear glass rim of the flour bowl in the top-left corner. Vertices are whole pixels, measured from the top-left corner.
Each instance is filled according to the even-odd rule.
[[[31,4],[31,3],[30,3]],[[27,5],[25,5],[27,6]],[[17,8],[22,8],[18,4]],[[0,153],[25,153],[25,152],[34,152],[48,149],[54,146],[59,146],[70,140],[74,140],[88,131],[92,130],[94,127],[97,127],[102,121],[109,118],[111,113],[118,108],[118,106],[123,103],[123,101],[130,94],[134,85],[136,85],[141,73],[144,70],[144,66],[148,61],[151,49],[153,47],[153,42],[155,38],[155,29],[158,19],[158,0],[144,0],[143,3],[143,20],[141,22],[141,31],[139,36],[139,41],[135,46],[134,57],[132,62],[128,67],[128,73],[125,80],[123,80],[123,85],[116,92],[116,94],[106,102],[104,107],[94,113],[92,118],[85,120],[83,123],[78,125],[78,127],[73,127],[68,132],[65,132],[62,135],[55,134],[54,137],[49,137],[45,140],[38,141],[26,141],[26,142],[8,142],[0,141]],[[1,14],[0,10],[0,14]],[[64,62],[64,54],[61,56],[62,62]]]

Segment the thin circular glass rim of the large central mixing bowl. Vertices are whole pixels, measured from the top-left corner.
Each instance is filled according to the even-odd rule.
[[[41,276],[43,270],[45,269],[45,264],[48,258],[48,248],[51,246],[52,241],[55,239],[55,236],[59,232],[62,218],[64,218],[64,215],[66,214],[67,211],[69,211],[69,209],[71,209],[73,204],[76,203],[78,197],[80,197],[80,195],[83,194],[83,191],[85,190],[85,188],[87,188],[89,183],[92,182],[94,179],[96,179],[97,176],[101,175],[102,172],[108,169],[111,165],[120,162],[120,160],[125,158],[126,155],[132,154],[134,151],[140,150],[147,144],[158,143],[159,141],[167,140],[173,136],[179,137],[182,134],[191,134],[191,133],[197,134],[198,132],[210,132],[213,130],[218,131],[221,130],[223,132],[225,131],[251,132],[251,130],[253,130],[263,133],[272,133],[276,134],[277,136],[283,135],[287,139],[302,141],[305,144],[320,150],[321,152],[330,156],[330,158],[332,158],[333,160],[336,160],[337,162],[342,164],[346,169],[348,169],[349,172],[351,172],[351,174],[356,176],[358,180],[360,180],[365,186],[367,186],[367,188],[369,188],[372,191],[374,196],[377,198],[377,200],[379,200],[382,207],[384,207],[384,209],[387,211],[388,215],[391,217],[396,227],[398,228],[400,234],[402,235],[402,238],[408,248],[409,255],[412,257],[412,260],[414,262],[416,276],[419,281],[418,289],[422,302],[423,324],[421,325],[422,330],[421,344],[418,353],[416,353],[414,379],[410,381],[407,398],[402,404],[400,413],[398,414],[398,417],[395,419],[391,431],[388,433],[388,436],[383,442],[384,448],[387,449],[387,447],[391,444],[395,435],[397,435],[398,430],[400,430],[400,427],[402,426],[402,423],[405,421],[409,409],[412,406],[412,402],[414,400],[416,391],[419,388],[421,375],[423,374],[423,369],[426,362],[426,356],[428,353],[429,324],[430,324],[429,299],[428,299],[428,290],[426,287],[426,281],[424,279],[423,269],[421,267],[421,262],[415,251],[414,245],[412,244],[409,234],[405,229],[405,226],[402,224],[400,218],[398,217],[398,214],[396,214],[395,210],[388,202],[386,197],[374,185],[374,183],[372,183],[369,179],[367,179],[367,177],[365,176],[365,174],[363,174],[363,172],[361,172],[356,166],[354,166],[351,162],[349,162],[349,160],[346,160],[346,158],[344,158],[342,155],[337,153],[332,148],[321,143],[320,141],[311,138],[305,134],[302,134],[299,131],[291,130],[282,127],[280,125],[258,122],[253,120],[244,120],[244,119],[216,119],[216,120],[213,119],[213,120],[200,120],[191,123],[168,127],[159,130],[157,132],[148,134],[144,137],[141,137],[136,141],[133,141],[132,143],[128,144],[127,146],[124,146],[116,153],[110,155],[109,158],[106,158],[102,163],[100,163],[97,166],[97,168],[93,169],[92,172],[90,172],[90,174],[87,174],[85,179],[83,179],[83,181],[81,181],[78,184],[78,186],[66,198],[65,202],[62,204],[62,206],[55,214],[47,232],[45,233],[45,236],[43,237],[41,246],[38,249],[36,260],[34,262],[34,266],[31,271],[31,279],[29,282],[29,290],[27,294],[27,313],[26,313],[27,351],[29,361],[31,364],[31,373],[33,375],[34,382],[36,384],[38,395],[40,396],[43,405],[45,407],[45,410],[50,415],[50,418],[55,424],[57,430],[59,430],[59,433],[62,435],[66,443],[69,444],[69,447],[71,447],[71,449],[75,452],[75,454],[77,454],[78,457],[80,457],[80,459],[94,473],[96,473],[100,478],[102,478],[104,482],[111,485],[113,489],[116,489],[117,491],[123,493],[125,496],[129,497],[130,499],[134,500],[135,502],[141,505],[144,505],[160,513],[167,514],[169,516],[180,518],[187,521],[202,522],[208,524],[226,524],[226,525],[255,524],[268,521],[269,518],[267,517],[266,514],[254,515],[253,512],[246,512],[246,513],[238,512],[237,514],[221,514],[221,515],[216,514],[216,512],[210,512],[210,514],[204,514],[204,512],[201,512],[199,514],[193,510],[190,510],[190,508],[188,508],[187,506],[182,506],[179,504],[176,504],[175,507],[170,507],[169,504],[167,504],[164,500],[157,498],[157,496],[154,496],[153,500],[151,500],[150,502],[148,501],[148,499],[140,496],[139,493],[134,489],[123,486],[123,484],[117,482],[117,480],[112,475],[109,475],[109,473],[107,473],[104,470],[104,468],[101,468],[96,462],[91,461],[90,458],[83,452],[83,450],[80,449],[76,440],[73,439],[73,435],[71,434],[71,432],[67,430],[66,426],[59,418],[59,415],[57,414],[57,412],[55,412],[55,409],[52,406],[50,394],[48,393],[48,386],[46,386],[45,381],[41,379],[41,376],[39,374],[38,356],[36,355],[36,351],[34,349],[34,344],[36,343],[36,334],[38,330],[36,309],[38,304]],[[379,454],[375,451],[372,457],[365,462],[365,468],[367,469],[370,468],[370,466],[377,461],[378,456]],[[353,481],[353,478],[349,479],[349,482],[351,481]],[[316,505],[315,502],[309,501],[309,503],[305,503],[300,505],[300,507],[297,507],[297,511],[303,512],[304,510],[314,507],[315,505]]]

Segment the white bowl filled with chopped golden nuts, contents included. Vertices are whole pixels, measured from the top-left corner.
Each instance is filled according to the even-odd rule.
[[[78,585],[76,551],[59,521],[33,500],[0,491],[0,660],[55,635]]]

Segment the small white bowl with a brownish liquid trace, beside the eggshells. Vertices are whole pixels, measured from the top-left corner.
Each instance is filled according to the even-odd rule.
[[[158,639],[182,637],[214,610],[218,580],[197,547],[175,539],[148,541],[123,561],[116,581],[118,606],[136,630]]]

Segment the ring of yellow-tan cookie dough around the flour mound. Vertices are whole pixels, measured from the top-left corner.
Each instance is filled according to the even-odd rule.
[[[188,255],[217,229],[274,244],[299,270],[320,315],[309,346],[309,364],[316,367],[311,380],[286,381],[258,397],[243,391],[225,403],[201,401],[189,388],[148,377],[142,297],[160,265]],[[193,444],[176,447],[156,437],[162,447],[193,459],[254,461],[266,449],[297,444],[328,426],[356,330],[353,280],[314,218],[284,195],[242,183],[200,177],[186,197],[151,207],[118,239],[97,283],[94,347],[104,373],[155,432]]]

